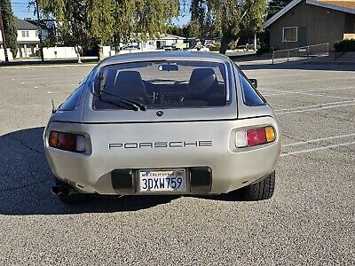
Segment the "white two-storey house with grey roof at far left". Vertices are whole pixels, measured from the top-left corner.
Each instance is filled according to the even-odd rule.
[[[17,27],[17,42],[19,44],[19,50],[17,57],[28,58],[35,57],[36,52],[39,49],[39,38],[37,27],[26,20],[16,20]],[[1,48],[3,47],[3,38],[0,35]],[[0,54],[0,59],[2,59],[2,54]],[[12,58],[12,55],[10,56]]]

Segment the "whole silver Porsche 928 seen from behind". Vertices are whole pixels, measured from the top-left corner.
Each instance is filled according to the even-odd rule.
[[[102,61],[44,130],[51,191],[65,203],[94,193],[271,198],[280,129],[256,83],[212,53]]]

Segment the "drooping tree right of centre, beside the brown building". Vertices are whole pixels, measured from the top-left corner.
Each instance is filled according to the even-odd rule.
[[[262,30],[266,6],[265,0],[193,0],[192,20],[199,22],[202,32],[213,24],[214,33],[222,36],[219,52],[225,54],[228,43],[242,32]]]

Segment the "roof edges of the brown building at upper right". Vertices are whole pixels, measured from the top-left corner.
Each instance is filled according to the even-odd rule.
[[[272,25],[273,22],[279,20],[284,14],[286,14],[289,10],[299,4],[301,1],[304,0],[293,0],[288,5],[286,5],[280,12],[277,12],[270,18],[269,20],[265,21],[263,27],[269,27]],[[306,4],[312,4],[340,12],[347,12],[351,14],[355,14],[355,0],[305,0]]]

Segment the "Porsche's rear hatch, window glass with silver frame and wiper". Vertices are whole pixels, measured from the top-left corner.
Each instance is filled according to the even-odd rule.
[[[237,118],[233,68],[227,63],[177,59],[108,65],[88,85],[84,123]]]

